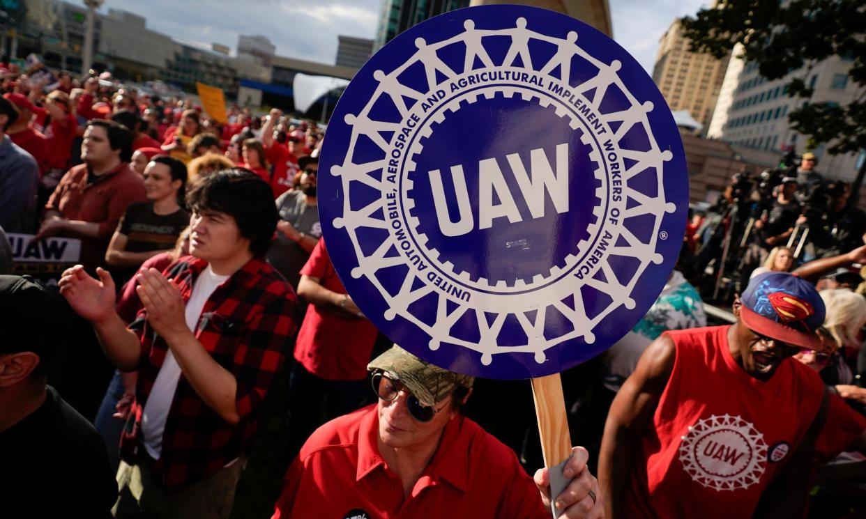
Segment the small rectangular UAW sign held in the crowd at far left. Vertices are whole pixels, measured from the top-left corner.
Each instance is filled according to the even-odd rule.
[[[56,282],[64,270],[81,259],[81,240],[46,238],[32,241],[33,234],[7,234],[12,249],[12,273],[29,275],[43,282]]]

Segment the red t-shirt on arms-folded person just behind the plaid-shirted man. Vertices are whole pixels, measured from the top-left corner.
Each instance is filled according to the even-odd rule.
[[[325,240],[319,240],[301,274],[318,278],[326,289],[345,294],[346,288],[333,269]],[[329,381],[360,381],[367,376],[378,330],[365,318],[340,317],[315,304],[298,330],[294,359],[313,375]]]

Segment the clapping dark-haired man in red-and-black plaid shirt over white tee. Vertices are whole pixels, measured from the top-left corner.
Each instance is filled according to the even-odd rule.
[[[139,271],[144,309],[129,328],[113,310],[107,272],[64,272],[61,293],[94,324],[109,359],[139,369],[141,434],[118,472],[128,488],[119,516],[229,515],[255,409],[296,330],[294,291],[262,259],[278,219],[271,198],[243,170],[194,185],[191,257],[165,273]]]

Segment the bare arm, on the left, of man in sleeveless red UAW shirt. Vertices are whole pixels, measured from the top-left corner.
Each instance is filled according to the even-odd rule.
[[[623,492],[629,487],[634,446],[650,424],[675,358],[674,341],[666,335],[658,337],[643,352],[635,372],[611,404],[598,458],[604,509],[611,519],[623,517]]]

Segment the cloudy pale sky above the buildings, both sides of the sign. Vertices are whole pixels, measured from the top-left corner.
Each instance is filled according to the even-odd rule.
[[[614,38],[652,72],[658,40],[675,17],[694,14],[708,0],[609,0]],[[337,35],[372,39],[381,0],[106,0],[102,12],[144,16],[148,29],[183,40],[222,43],[238,35],[266,35],[277,54],[333,63]]]

